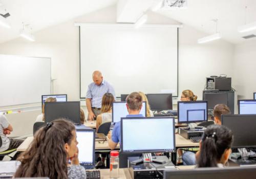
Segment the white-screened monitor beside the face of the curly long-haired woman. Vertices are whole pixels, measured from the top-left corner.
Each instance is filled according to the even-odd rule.
[[[82,166],[95,165],[95,130],[76,129],[79,163]]]

